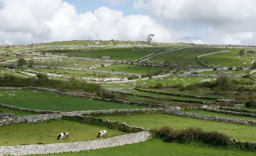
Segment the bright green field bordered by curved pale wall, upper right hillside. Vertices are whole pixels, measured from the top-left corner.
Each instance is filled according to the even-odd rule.
[[[230,52],[218,53],[200,57],[200,61],[206,65],[221,66],[251,66],[251,56],[245,55],[238,58],[238,52],[241,49],[230,49]],[[247,50],[246,50],[247,51]],[[227,61],[228,60],[228,61]]]

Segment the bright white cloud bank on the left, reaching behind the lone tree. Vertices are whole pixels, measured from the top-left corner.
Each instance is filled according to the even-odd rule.
[[[124,16],[122,11],[100,7],[78,14],[62,0],[0,0],[0,44],[36,43],[73,39],[171,41],[168,29],[149,16]],[[40,5],[39,5],[40,4]]]

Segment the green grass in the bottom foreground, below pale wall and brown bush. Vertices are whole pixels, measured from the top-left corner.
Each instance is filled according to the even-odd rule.
[[[90,151],[44,154],[43,156],[254,156],[254,152],[245,152],[228,149],[208,148],[195,146],[191,144],[166,143],[160,139],[150,139],[145,142],[134,143],[129,145],[96,149]],[[30,155],[32,156],[32,155]],[[39,155],[33,155],[39,156]]]

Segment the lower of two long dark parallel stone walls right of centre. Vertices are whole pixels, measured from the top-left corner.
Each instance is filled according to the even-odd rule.
[[[149,96],[149,95],[139,95],[139,94],[133,94],[133,93],[120,92],[120,91],[111,91],[111,92],[112,92],[112,93],[123,94],[123,95],[137,96],[137,97],[142,97],[142,98],[159,98],[159,99],[167,99],[167,100],[170,100],[170,101],[186,102],[186,103],[192,103],[192,104],[205,104],[205,103],[216,104],[216,103],[214,103],[214,102],[204,102],[204,101],[185,100],[185,99],[174,99],[174,98],[157,97],[157,96]]]

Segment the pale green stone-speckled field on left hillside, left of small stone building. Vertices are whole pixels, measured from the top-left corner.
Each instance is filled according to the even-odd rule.
[[[51,58],[51,59],[37,59],[36,65],[44,65],[50,67],[69,67],[69,68],[89,68],[92,66],[100,66],[101,64],[109,64],[104,61],[89,61],[82,59],[69,58]]]

